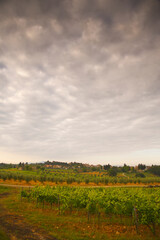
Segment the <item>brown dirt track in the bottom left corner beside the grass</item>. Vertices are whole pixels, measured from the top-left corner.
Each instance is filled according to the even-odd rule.
[[[7,196],[8,193],[0,194],[0,198]],[[10,213],[2,204],[0,204],[0,227],[11,240],[57,240],[42,229],[26,223],[23,216]]]

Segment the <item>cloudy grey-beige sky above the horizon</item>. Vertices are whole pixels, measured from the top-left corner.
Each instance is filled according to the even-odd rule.
[[[0,162],[160,164],[159,13],[0,0]]]

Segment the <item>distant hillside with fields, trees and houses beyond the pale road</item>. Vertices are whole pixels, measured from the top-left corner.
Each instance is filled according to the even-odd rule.
[[[139,164],[138,167],[108,165],[89,165],[82,163],[19,163],[8,165],[0,163],[0,179],[5,181],[51,182],[54,184],[86,184],[86,185],[108,185],[108,184],[159,184],[160,166],[147,167]],[[143,177],[142,177],[143,176]]]

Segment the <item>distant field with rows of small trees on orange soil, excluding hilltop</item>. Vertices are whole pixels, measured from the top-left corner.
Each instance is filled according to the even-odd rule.
[[[73,169],[19,170],[0,169],[0,183],[11,184],[50,184],[79,186],[112,186],[112,185],[160,185],[160,177],[143,172],[144,177],[136,177],[134,172],[120,172],[116,177],[109,176],[107,171],[75,172]]]

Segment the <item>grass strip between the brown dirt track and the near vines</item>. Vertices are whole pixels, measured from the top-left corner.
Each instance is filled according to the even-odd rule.
[[[0,187],[0,191],[5,191]],[[133,226],[130,218],[117,218],[110,216],[101,218],[98,224],[98,219],[95,216],[91,217],[88,222],[84,212],[61,212],[51,210],[50,206],[36,206],[35,203],[27,202],[20,199],[20,189],[9,188],[10,195],[2,198],[0,203],[13,214],[23,216],[32,226],[43,228],[56,237],[58,240],[159,240],[160,237],[153,234],[144,226],[141,226],[140,233],[137,235],[135,226]],[[0,238],[3,239],[3,238]],[[5,239],[5,238],[4,238]]]

